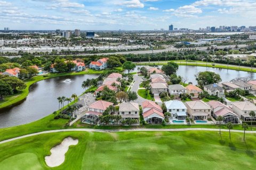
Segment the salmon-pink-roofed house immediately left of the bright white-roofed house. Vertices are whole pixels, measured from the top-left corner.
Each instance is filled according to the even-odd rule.
[[[142,116],[149,124],[161,124],[164,120],[161,106],[153,101],[144,101],[142,103]]]

